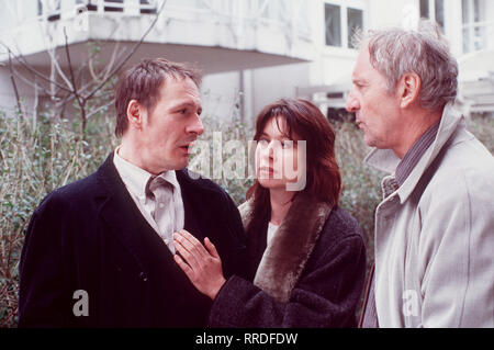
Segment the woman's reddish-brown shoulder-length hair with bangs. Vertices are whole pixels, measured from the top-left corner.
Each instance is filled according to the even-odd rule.
[[[341,177],[335,158],[335,132],[319,109],[306,100],[282,99],[267,105],[257,116],[255,140],[261,137],[266,124],[273,117],[281,117],[290,139],[306,142],[306,185],[303,190],[314,199],[337,205],[341,189]],[[278,123],[280,125],[280,123]],[[269,190],[256,180],[247,191],[247,199],[254,195],[254,206],[269,208]]]

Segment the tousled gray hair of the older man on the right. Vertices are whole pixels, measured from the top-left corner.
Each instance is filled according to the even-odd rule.
[[[420,77],[420,105],[436,111],[454,101],[458,89],[458,63],[437,24],[420,21],[417,30],[388,29],[359,33],[353,44],[368,48],[370,63],[386,79],[393,93],[408,72]]]

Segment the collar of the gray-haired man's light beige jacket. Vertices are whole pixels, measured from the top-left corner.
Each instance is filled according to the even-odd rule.
[[[412,194],[420,180],[420,177],[436,159],[458,127],[464,127],[463,116],[453,108],[452,103],[448,103],[442,111],[439,129],[433,145],[425,151],[420,160],[406,178],[405,182],[396,191],[402,204]],[[394,173],[400,160],[401,159],[391,149],[374,148],[363,161],[378,170]]]

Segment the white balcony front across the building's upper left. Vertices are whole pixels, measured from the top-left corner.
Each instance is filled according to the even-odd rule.
[[[154,19],[146,14],[157,13],[161,8],[156,31],[148,36],[153,43],[165,43],[166,38],[172,44],[257,49],[302,59],[313,54],[311,11],[307,11],[311,7],[304,0],[25,1],[32,7],[16,7],[20,15],[11,18],[8,26],[0,26],[4,44],[23,55],[60,46],[66,36],[76,42],[87,39],[87,35],[100,39],[103,32],[98,31],[98,25],[113,27],[114,23],[125,25],[132,21],[141,23],[136,27],[147,27],[148,20]],[[170,30],[165,36],[161,32],[166,26]],[[191,30],[183,33],[183,29]],[[44,35],[48,42],[41,37],[42,32],[48,34]],[[125,27],[114,39],[134,41],[139,35],[138,31]],[[0,47],[0,60],[2,54]]]

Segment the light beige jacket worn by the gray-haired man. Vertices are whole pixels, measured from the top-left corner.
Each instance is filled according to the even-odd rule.
[[[366,158],[392,173],[375,212],[379,326],[494,327],[493,156],[447,105],[435,142],[390,191],[398,161],[391,150]]]

